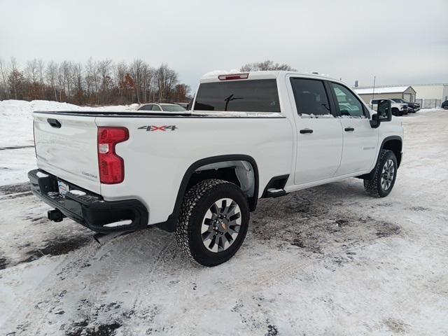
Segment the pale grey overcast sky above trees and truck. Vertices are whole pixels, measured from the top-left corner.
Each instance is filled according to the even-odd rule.
[[[0,57],[211,70],[272,59],[353,85],[448,83],[448,0],[0,0]]]

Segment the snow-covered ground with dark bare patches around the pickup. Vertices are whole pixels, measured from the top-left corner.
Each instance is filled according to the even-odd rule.
[[[0,335],[447,335],[448,112],[402,121],[391,195],[348,179],[260,200],[213,268],[156,228],[99,245],[0,187]]]

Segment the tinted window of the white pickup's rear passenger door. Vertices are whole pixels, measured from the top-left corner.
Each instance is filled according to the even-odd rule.
[[[331,114],[327,92],[322,80],[291,78],[297,113],[323,116]]]

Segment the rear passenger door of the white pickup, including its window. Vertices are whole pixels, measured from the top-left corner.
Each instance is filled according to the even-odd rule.
[[[342,155],[342,127],[323,80],[290,76],[295,110],[297,155],[295,184],[335,176]]]

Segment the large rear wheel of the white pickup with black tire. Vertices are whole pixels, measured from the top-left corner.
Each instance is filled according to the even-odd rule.
[[[201,181],[183,197],[175,231],[177,244],[200,265],[222,264],[243,244],[249,216],[246,196],[238,186],[218,179]]]

